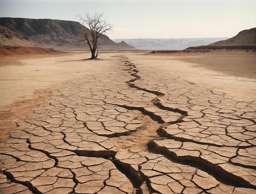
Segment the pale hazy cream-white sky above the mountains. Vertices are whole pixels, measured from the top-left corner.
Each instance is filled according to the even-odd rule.
[[[0,0],[0,17],[79,21],[104,12],[115,38],[233,37],[256,27],[256,0]]]

